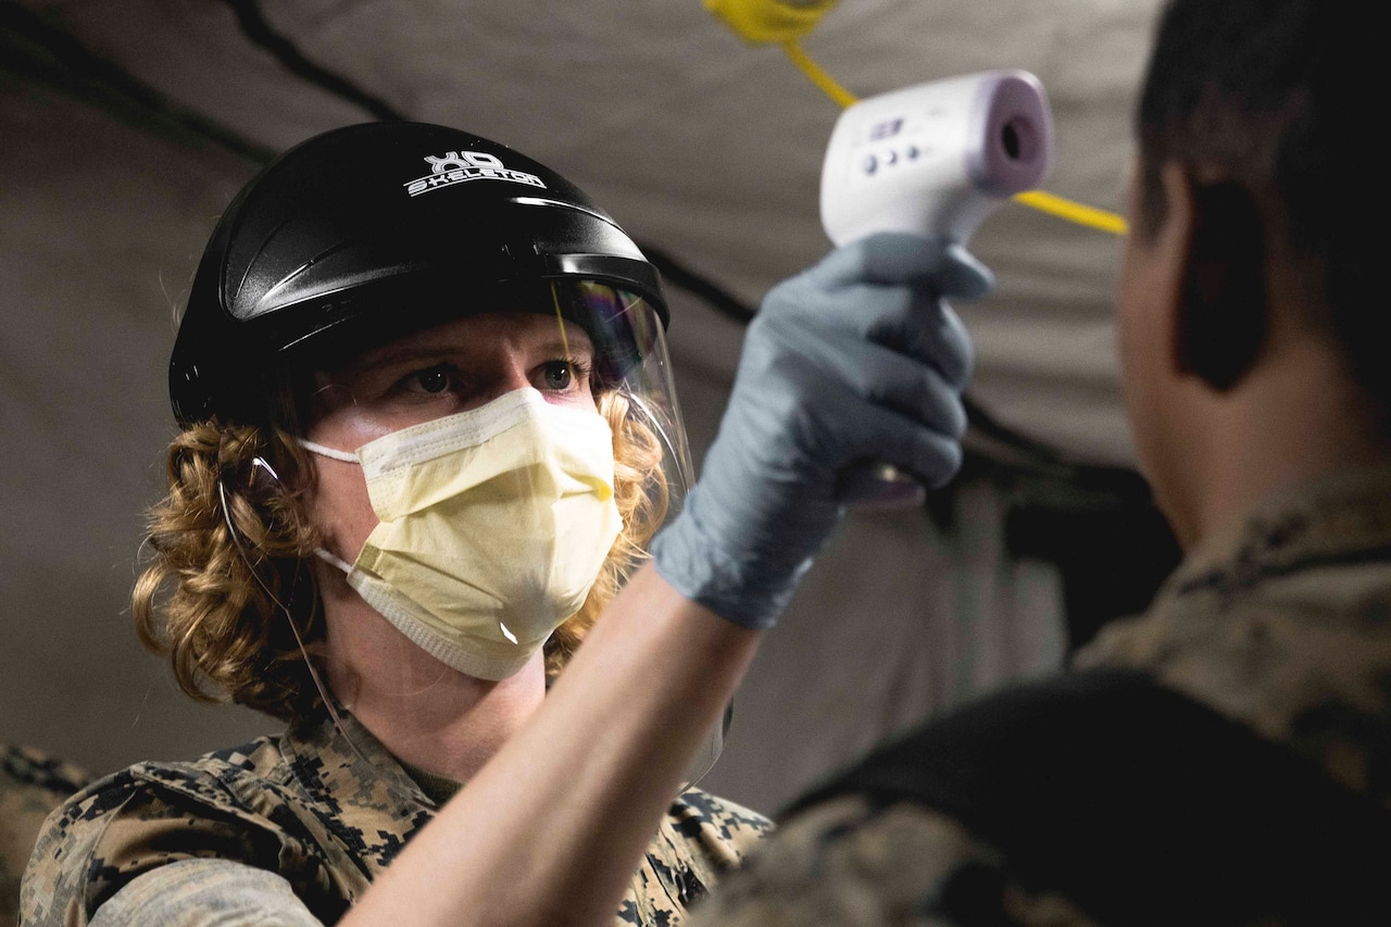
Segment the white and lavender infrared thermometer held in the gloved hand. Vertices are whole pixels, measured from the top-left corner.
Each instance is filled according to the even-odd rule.
[[[868,97],[842,113],[821,170],[821,224],[833,244],[881,231],[965,245],[1053,157],[1053,117],[1028,71],[985,71]],[[851,468],[840,498],[900,505],[924,489],[883,464]]]

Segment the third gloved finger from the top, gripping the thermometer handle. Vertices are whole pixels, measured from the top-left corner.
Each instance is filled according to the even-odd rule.
[[[804,402],[815,404],[819,393],[842,387],[949,437],[965,434],[960,388],[931,363],[855,337],[798,330],[787,333],[787,340],[803,359],[796,388]]]

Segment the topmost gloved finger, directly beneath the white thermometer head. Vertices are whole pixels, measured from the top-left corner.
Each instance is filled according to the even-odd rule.
[[[803,274],[812,285],[926,281],[939,295],[974,299],[989,292],[995,277],[957,244],[903,232],[879,232],[830,252]]]

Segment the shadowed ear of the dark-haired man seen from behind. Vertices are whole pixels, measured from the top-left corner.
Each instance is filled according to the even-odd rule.
[[[1166,196],[1187,196],[1189,230],[1181,253],[1174,362],[1181,373],[1227,391],[1266,344],[1264,220],[1251,192],[1232,181],[1195,182],[1177,171]]]

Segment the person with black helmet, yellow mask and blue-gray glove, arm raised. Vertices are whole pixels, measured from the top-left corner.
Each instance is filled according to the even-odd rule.
[[[935,303],[983,280],[889,241],[771,298],[658,575],[689,468],[622,230],[441,127],[282,156],[195,278],[134,601],[185,689],[289,728],[77,796],[28,923],[679,920],[765,821],[670,796],[837,475],[954,469],[970,349]]]

